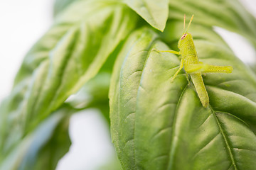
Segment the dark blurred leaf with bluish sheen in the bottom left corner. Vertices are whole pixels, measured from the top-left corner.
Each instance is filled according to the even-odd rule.
[[[38,128],[16,144],[8,155],[4,155],[0,169],[55,169],[58,160],[68,152],[70,138],[68,108],[62,108],[44,120]]]

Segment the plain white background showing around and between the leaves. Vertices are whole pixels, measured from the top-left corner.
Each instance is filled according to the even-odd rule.
[[[255,0],[240,1],[256,16]],[[0,101],[11,91],[26,52],[53,23],[52,8],[53,0],[0,1]],[[222,28],[215,30],[243,62],[255,62],[255,50],[247,40]],[[97,111],[74,115],[70,137],[73,145],[60,160],[58,170],[94,170],[114,156],[107,125]]]

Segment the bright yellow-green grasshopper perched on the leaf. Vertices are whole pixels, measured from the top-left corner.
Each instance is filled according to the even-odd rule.
[[[191,17],[191,21],[188,24],[188,28],[191,25],[193,20],[193,16]],[[178,68],[178,71],[174,74],[171,81],[174,81],[175,77],[178,75],[178,72],[184,66],[186,71],[186,78],[188,79],[188,74],[190,74],[193,84],[196,88],[196,92],[198,97],[203,105],[203,107],[207,108],[209,104],[209,97],[206,91],[206,86],[203,84],[202,74],[206,73],[231,73],[233,71],[233,67],[230,66],[216,66],[210,64],[204,64],[203,62],[198,61],[198,55],[196,52],[196,47],[193,43],[193,38],[190,33],[188,33],[188,28],[185,30],[185,21],[186,15],[184,15],[184,25],[183,25],[183,35],[180,40],[178,40],[178,49],[179,52],[174,50],[166,50],[157,52],[170,52],[176,55],[181,55],[181,64]],[[188,80],[189,84],[189,80]]]

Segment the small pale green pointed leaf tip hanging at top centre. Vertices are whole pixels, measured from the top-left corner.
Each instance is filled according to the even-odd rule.
[[[169,13],[168,0],[123,0],[154,28],[163,31]]]

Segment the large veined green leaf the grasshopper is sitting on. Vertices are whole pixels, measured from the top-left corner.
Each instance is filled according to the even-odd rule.
[[[182,23],[170,25],[164,35],[177,43]],[[203,77],[210,97],[203,108],[184,72],[171,83],[176,55],[152,50],[169,47],[151,30],[131,35],[110,84],[112,140],[124,169],[256,167],[256,76],[213,30],[193,24],[191,33],[201,62],[234,71]]]

